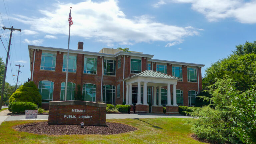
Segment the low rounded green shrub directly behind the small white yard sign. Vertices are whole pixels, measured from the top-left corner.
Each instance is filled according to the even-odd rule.
[[[32,102],[15,102],[12,104],[12,113],[24,113],[25,110],[36,110],[37,105]]]

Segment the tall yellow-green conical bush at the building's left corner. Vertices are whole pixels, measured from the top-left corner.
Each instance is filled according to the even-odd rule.
[[[26,82],[20,86],[10,97],[10,102],[14,101],[32,102],[41,106],[42,96],[34,82]]]

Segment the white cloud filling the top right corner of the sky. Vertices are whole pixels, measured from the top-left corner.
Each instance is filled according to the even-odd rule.
[[[162,2],[163,0],[159,0]],[[191,8],[210,21],[233,18],[241,23],[256,23],[256,1],[245,0],[165,0],[164,3],[190,3]],[[159,6],[159,5],[158,5]]]

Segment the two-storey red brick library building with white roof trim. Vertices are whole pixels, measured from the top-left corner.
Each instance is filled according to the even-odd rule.
[[[28,49],[31,81],[42,95],[43,107],[48,109],[49,101],[64,100],[67,49],[33,45],[28,45]],[[163,106],[193,106],[196,94],[202,90],[201,68],[204,65],[157,60],[152,59],[153,56],[109,48],[103,48],[100,52],[88,52],[83,51],[83,42],[78,42],[77,50],[69,50],[67,100],[74,99],[77,86],[80,85],[85,101],[114,105],[154,105],[155,100],[157,105]],[[175,82],[164,82],[165,85],[152,85],[152,82],[146,88],[143,86],[147,82],[128,82],[128,79],[146,70],[155,75],[163,73],[163,77],[168,76]],[[158,79],[164,79],[163,77]],[[138,87],[141,91],[138,91]],[[129,91],[126,92],[127,88]],[[144,103],[143,100],[147,102]]]

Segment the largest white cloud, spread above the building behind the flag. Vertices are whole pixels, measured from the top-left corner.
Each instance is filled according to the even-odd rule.
[[[153,21],[148,15],[128,19],[118,7],[118,1],[106,0],[80,3],[56,3],[55,8],[39,10],[42,17],[16,15],[15,20],[30,25],[35,31],[50,35],[68,35],[69,7],[72,6],[71,36],[91,38],[108,46],[114,43],[133,45],[139,42],[182,41],[187,36],[199,35],[198,29],[184,28]]]

